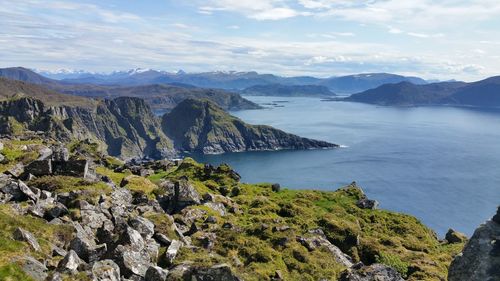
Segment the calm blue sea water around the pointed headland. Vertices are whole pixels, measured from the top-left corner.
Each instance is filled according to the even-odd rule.
[[[233,115],[344,147],[197,160],[228,163],[245,182],[294,189],[335,190],[356,181],[381,208],[414,215],[440,236],[450,227],[471,235],[500,205],[500,110],[247,98],[286,102]]]

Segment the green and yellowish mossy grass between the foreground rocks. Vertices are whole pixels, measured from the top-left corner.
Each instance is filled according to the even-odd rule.
[[[109,159],[105,162],[113,163]],[[129,172],[115,173],[105,167],[99,167],[98,172],[109,175],[117,184],[130,175]],[[126,187],[133,192],[154,196],[160,191],[151,182],[188,176],[201,194],[225,194],[229,191],[228,196],[242,213],[221,217],[206,206],[190,207],[207,212],[197,221],[199,226],[208,215],[217,218],[219,227],[213,231],[217,242],[211,253],[205,249],[193,251],[183,248],[175,262],[189,260],[200,265],[226,262],[245,280],[268,280],[276,270],[280,270],[287,280],[336,280],[343,268],[333,261],[325,249],[309,252],[296,242],[296,236],[303,236],[317,227],[321,227],[330,241],[356,261],[386,263],[397,268],[409,280],[444,280],[452,256],[463,246],[441,244],[432,230],[412,216],[357,208],[355,202],[361,196],[361,190],[355,186],[335,192],[283,189],[276,193],[272,192],[269,184],[238,183],[230,174],[230,168],[222,166],[219,172],[206,175],[202,164],[187,159],[179,167],[156,171],[148,179],[135,177]],[[30,185],[50,186],[59,192],[85,190],[80,199],[90,202],[96,202],[100,194],[111,192],[103,183],[89,183],[71,177],[42,177],[30,182]],[[142,190],[143,185],[147,189]],[[236,192],[236,187],[239,192]],[[78,210],[72,209],[71,215],[78,218]],[[176,238],[167,216],[146,214],[146,217],[157,224],[157,229]],[[226,222],[234,227],[222,228]],[[44,251],[47,250],[47,242],[53,239],[53,233],[65,233],[64,229],[42,220],[16,216],[6,206],[0,208],[0,224],[0,280],[6,275],[21,274],[12,263],[13,257],[29,251],[26,244],[12,241],[12,231],[16,226],[25,227],[40,237]],[[284,225],[290,229],[273,231],[273,227]],[[193,235],[193,243],[200,245],[197,235]],[[355,242],[358,237],[359,244]],[[278,242],[286,238],[289,239],[288,245],[279,246]],[[243,266],[238,266],[236,260]]]

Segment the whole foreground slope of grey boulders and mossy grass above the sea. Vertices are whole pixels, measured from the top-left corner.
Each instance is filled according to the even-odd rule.
[[[287,190],[189,158],[0,143],[0,280],[445,280],[465,242],[355,183]]]

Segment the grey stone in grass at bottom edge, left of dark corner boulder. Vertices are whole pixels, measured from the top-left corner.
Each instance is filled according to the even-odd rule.
[[[392,267],[383,264],[357,264],[342,272],[339,281],[404,281]]]

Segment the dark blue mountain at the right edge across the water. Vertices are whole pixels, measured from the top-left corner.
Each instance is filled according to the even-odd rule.
[[[415,85],[409,82],[386,84],[345,98],[346,101],[378,105],[460,105],[478,107],[500,106],[500,76],[485,80],[441,82]]]

